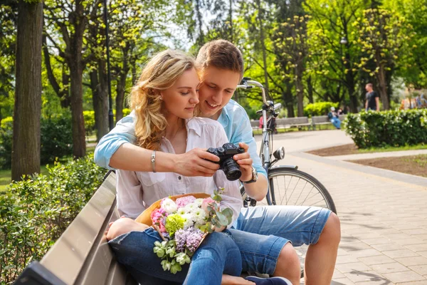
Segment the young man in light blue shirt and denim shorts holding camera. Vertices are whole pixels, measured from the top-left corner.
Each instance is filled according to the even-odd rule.
[[[201,116],[218,120],[230,142],[246,152],[233,157],[241,167],[241,181],[248,195],[261,200],[268,183],[256,153],[251,123],[246,111],[231,100],[243,77],[243,56],[232,43],[223,40],[206,43],[196,58],[201,68],[199,90]],[[132,112],[133,113],[133,112]],[[95,149],[95,162],[102,167],[133,171],[152,171],[152,151],[135,143],[135,113],[120,120]],[[184,176],[211,176],[218,170],[218,157],[203,149],[182,155],[157,152],[157,172],[176,172]],[[241,250],[244,271],[283,276],[300,284],[300,261],[292,247],[310,244],[305,259],[305,284],[330,284],[337,258],[340,225],[337,215],[317,207],[249,207],[242,209],[233,231]],[[277,243],[277,237],[287,239]],[[262,247],[255,247],[251,240]],[[292,244],[290,244],[292,242]]]

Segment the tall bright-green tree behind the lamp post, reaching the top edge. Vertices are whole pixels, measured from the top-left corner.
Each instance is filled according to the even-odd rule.
[[[349,95],[352,112],[359,106],[356,93],[357,63],[360,55],[357,35],[352,25],[365,7],[363,0],[307,0],[312,20],[308,24],[310,45],[309,73],[320,88],[325,100],[340,102],[344,91]],[[344,39],[344,42],[341,42]],[[347,41],[347,42],[346,42]],[[318,90],[315,92],[319,93]]]

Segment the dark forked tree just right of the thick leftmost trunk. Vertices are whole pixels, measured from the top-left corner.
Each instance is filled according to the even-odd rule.
[[[73,156],[86,153],[85,122],[83,119],[83,70],[91,59],[83,49],[83,36],[88,19],[96,13],[100,0],[46,0],[46,36],[56,53],[70,68],[70,107],[73,123]],[[59,38],[59,41],[58,41]]]

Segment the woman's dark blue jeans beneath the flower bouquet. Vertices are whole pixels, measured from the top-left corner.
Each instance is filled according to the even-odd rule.
[[[176,274],[164,271],[161,259],[154,254],[154,242],[162,242],[159,234],[151,227],[143,232],[128,232],[108,244],[117,261],[139,283],[147,284],[221,284],[222,274],[240,276],[242,271],[241,253],[228,231],[213,232],[196,250],[190,264],[184,264]]]

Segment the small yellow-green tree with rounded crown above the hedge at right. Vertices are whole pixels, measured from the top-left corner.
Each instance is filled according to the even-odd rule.
[[[387,92],[387,71],[392,71],[399,64],[396,61],[400,53],[410,41],[411,34],[404,31],[407,25],[404,18],[392,14],[385,9],[367,9],[363,17],[354,22],[357,27],[359,42],[362,44],[362,52],[369,57],[360,58],[359,66],[369,71],[371,76],[376,77],[379,85],[379,95],[384,110],[390,108],[390,98]],[[354,32],[357,33],[357,32]],[[372,59],[374,68],[367,69],[367,62]],[[391,76],[389,76],[391,78]]]

